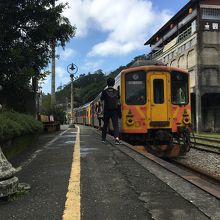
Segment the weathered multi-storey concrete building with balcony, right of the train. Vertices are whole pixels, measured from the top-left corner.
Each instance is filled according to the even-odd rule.
[[[197,131],[220,131],[220,1],[191,0],[145,45],[149,59],[190,73]]]

